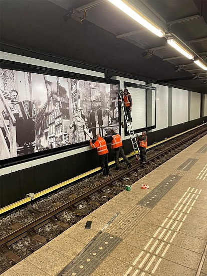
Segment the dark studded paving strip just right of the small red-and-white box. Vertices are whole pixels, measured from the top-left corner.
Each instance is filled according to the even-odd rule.
[[[169,175],[137,204],[153,208],[180,179],[181,176]]]

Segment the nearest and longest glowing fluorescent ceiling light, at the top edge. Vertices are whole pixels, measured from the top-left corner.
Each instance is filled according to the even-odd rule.
[[[144,15],[135,10],[133,7],[129,7],[127,5],[128,3],[125,4],[124,0],[108,1],[158,37],[163,37],[165,35],[165,33],[159,27],[155,26],[152,22],[145,18]]]

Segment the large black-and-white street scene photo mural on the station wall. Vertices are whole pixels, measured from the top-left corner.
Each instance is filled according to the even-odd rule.
[[[1,160],[118,131],[117,84],[0,70]]]

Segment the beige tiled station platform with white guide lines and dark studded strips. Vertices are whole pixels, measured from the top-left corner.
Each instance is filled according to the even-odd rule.
[[[3,276],[204,276],[206,242],[207,135]]]

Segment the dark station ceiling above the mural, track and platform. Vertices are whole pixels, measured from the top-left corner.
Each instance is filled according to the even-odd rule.
[[[73,66],[77,61],[76,66],[90,69],[98,66],[108,78],[126,73],[147,83],[207,93],[206,71],[107,0],[95,1],[99,2],[86,10],[83,19],[84,11],[77,10],[93,0],[0,0],[1,50]],[[135,2],[206,62],[207,1]],[[145,50],[149,59],[142,56]],[[175,71],[175,66],[181,70]]]

